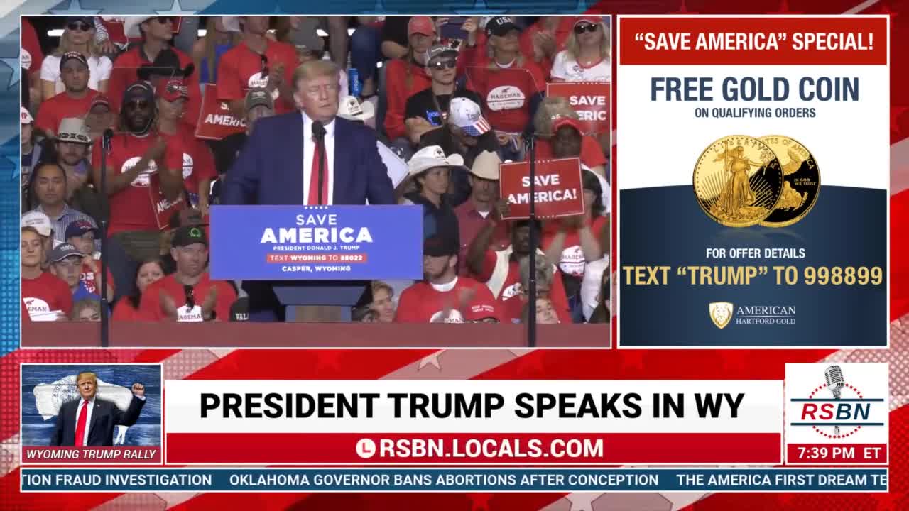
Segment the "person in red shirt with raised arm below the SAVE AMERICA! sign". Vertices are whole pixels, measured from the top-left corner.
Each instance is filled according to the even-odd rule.
[[[521,284],[520,260],[530,255],[530,229],[534,228],[539,232],[540,225],[538,220],[533,224],[526,219],[515,221],[511,225],[512,244],[504,250],[494,250],[491,247],[493,233],[501,222],[501,210],[506,204],[500,201],[496,205],[495,214],[486,219],[486,224],[467,251],[467,265],[477,280],[486,283],[493,296],[498,299],[503,321],[520,323],[524,302],[527,299],[526,290]],[[545,255],[537,249],[537,257],[542,258]],[[545,293],[546,291],[548,293]],[[568,300],[558,269],[554,269],[550,288],[546,290],[538,287],[537,293],[548,294],[559,321],[571,323]]]

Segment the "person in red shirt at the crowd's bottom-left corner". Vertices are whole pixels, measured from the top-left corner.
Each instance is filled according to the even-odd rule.
[[[73,309],[73,294],[64,281],[41,269],[45,249],[34,227],[22,228],[21,249],[23,320],[65,321]]]

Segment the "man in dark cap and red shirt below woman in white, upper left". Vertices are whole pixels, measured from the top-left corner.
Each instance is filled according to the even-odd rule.
[[[88,88],[88,61],[79,52],[60,57],[60,79],[66,90],[42,103],[35,118],[35,127],[50,138],[66,117],[85,117],[98,94]]]

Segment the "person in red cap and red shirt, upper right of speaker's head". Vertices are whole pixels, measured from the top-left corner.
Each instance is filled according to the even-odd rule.
[[[435,24],[429,16],[414,16],[407,23],[407,55],[388,62],[385,69],[385,135],[393,144],[410,147],[404,117],[407,98],[433,85],[426,73],[426,56],[435,40]],[[397,140],[397,139],[403,140]],[[405,158],[406,159],[406,158]]]

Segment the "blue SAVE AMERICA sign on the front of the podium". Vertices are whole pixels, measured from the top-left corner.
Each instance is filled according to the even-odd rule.
[[[219,280],[423,278],[419,205],[215,205]]]

